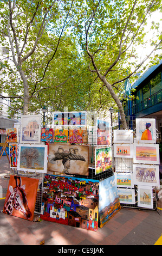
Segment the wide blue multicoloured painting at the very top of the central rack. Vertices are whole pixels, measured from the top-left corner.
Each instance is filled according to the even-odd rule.
[[[86,126],[87,115],[81,112],[54,112],[54,125],[59,126]]]

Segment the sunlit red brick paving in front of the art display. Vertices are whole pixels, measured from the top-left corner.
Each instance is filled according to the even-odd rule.
[[[4,197],[8,180],[1,176],[8,173],[8,166],[7,157],[3,156],[0,160],[0,185],[3,187]],[[4,200],[0,199],[1,211]],[[44,220],[27,221],[0,212],[0,245],[40,245],[42,241],[44,245],[69,245],[72,248],[75,245],[160,245],[161,215],[160,210],[123,208],[103,228],[94,232]]]

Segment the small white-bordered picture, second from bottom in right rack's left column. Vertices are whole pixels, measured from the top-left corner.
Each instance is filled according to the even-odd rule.
[[[117,187],[134,187],[133,173],[114,173]]]

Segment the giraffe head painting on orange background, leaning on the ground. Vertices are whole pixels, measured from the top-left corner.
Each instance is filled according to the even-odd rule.
[[[3,213],[33,221],[38,179],[10,175]]]

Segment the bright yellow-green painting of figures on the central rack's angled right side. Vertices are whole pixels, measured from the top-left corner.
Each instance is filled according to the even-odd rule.
[[[95,174],[112,168],[112,148],[95,148]]]

